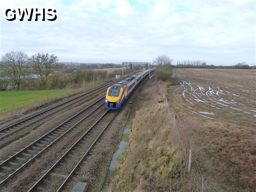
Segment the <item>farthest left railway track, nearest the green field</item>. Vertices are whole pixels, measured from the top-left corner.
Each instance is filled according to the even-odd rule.
[[[127,78],[127,77],[125,77]],[[125,78],[122,78],[122,79],[125,79]],[[99,87],[99,88],[96,88],[95,90],[92,90],[88,93],[84,93],[80,96],[77,96],[76,98],[73,98],[73,99],[70,99],[69,101],[67,102],[64,102],[64,103],[61,103],[59,105],[56,105],[52,108],[49,108],[47,110],[44,110],[40,113],[37,113],[29,118],[26,118],[26,119],[23,119],[19,122],[16,122],[15,124],[12,124],[12,125],[9,125],[5,128],[2,128],[0,129],[0,140],[10,136],[11,134],[17,132],[17,131],[20,131],[21,129],[29,126],[29,125],[32,125],[34,124],[35,122],[38,122],[40,121],[41,119],[44,119],[45,117],[47,116],[51,116],[53,113],[56,113],[57,111],[60,111],[70,105],[73,105],[75,104],[76,102],[79,102],[81,101],[82,99],[86,98],[87,96],[91,96],[93,95],[94,93],[97,93],[99,92],[100,90],[103,90],[109,86],[111,86],[112,84],[115,84],[116,82],[122,80],[122,79],[118,79],[117,81],[113,81],[109,84],[105,84],[103,85],[102,87]]]

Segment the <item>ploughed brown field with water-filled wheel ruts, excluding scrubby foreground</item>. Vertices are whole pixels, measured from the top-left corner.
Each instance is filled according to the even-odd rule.
[[[255,70],[177,69],[174,76],[192,113],[210,119],[256,119]]]

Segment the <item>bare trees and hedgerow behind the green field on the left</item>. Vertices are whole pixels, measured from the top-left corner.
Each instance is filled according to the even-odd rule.
[[[86,70],[92,68],[119,67],[115,64],[73,64],[58,63],[54,54],[36,53],[28,56],[24,51],[11,51],[3,55],[0,62],[0,89],[18,90],[61,89],[81,87],[81,83],[105,81],[121,74],[116,69],[108,74],[106,71]],[[137,70],[135,68],[134,70]],[[125,70],[124,74],[131,71]]]

